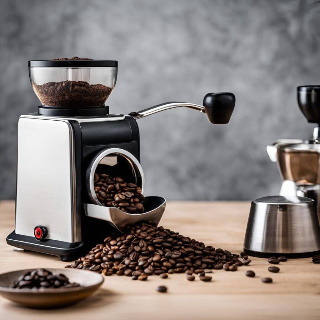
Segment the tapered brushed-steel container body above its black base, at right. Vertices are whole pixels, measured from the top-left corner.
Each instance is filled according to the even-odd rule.
[[[272,253],[320,250],[315,202],[297,196],[274,196],[269,203],[260,199],[252,201],[244,249]]]

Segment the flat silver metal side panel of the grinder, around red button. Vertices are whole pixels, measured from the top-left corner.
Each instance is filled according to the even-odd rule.
[[[42,225],[48,229],[49,239],[81,241],[74,152],[74,134],[68,120],[20,117],[17,234],[34,236],[34,227]]]

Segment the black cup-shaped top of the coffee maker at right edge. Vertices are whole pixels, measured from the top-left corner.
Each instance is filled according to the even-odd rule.
[[[320,124],[320,86],[304,85],[297,91],[300,110],[308,122]]]

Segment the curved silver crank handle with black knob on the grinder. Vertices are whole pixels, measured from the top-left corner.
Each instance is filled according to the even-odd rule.
[[[129,116],[140,119],[160,111],[186,107],[205,113],[213,124],[227,124],[235,107],[235,102],[235,95],[231,92],[207,93],[204,96],[203,106],[187,102],[165,102],[138,112],[131,112]]]

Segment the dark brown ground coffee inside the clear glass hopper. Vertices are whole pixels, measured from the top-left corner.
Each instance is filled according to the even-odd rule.
[[[52,107],[103,106],[112,89],[85,81],[61,81],[32,84],[41,103]]]

